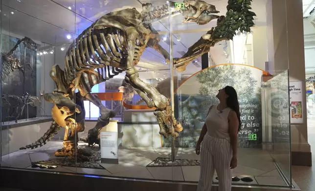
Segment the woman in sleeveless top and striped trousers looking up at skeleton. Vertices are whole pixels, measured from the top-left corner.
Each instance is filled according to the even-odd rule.
[[[235,89],[226,86],[217,95],[220,103],[209,108],[196,146],[201,150],[201,172],[197,191],[210,191],[216,170],[219,191],[231,191],[231,169],[237,166],[237,135],[241,128],[240,106]]]

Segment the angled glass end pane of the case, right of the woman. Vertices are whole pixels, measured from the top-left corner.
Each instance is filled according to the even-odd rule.
[[[289,74],[285,71],[267,81],[269,152],[287,181],[291,184],[291,144],[289,106]]]

